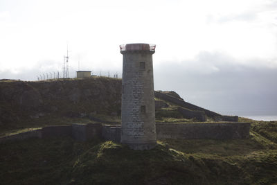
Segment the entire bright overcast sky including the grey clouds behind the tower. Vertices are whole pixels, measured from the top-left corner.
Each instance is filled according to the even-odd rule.
[[[0,1],[0,79],[122,72],[119,44],[157,44],[154,89],[222,114],[277,115],[277,1]]]

